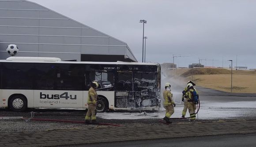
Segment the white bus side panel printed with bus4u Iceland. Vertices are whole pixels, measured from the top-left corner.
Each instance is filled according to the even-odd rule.
[[[34,108],[83,108],[83,91],[34,90]]]

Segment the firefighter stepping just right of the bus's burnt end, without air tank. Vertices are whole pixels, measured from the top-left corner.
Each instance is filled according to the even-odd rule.
[[[169,82],[165,85],[165,90],[163,91],[163,97],[164,97],[164,108],[166,109],[166,116],[163,118],[166,123],[172,123],[170,122],[170,117],[174,113],[174,107],[176,104],[173,101],[173,94],[171,93],[171,84]]]

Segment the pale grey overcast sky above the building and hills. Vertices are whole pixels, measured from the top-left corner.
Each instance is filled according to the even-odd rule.
[[[30,0],[128,44],[142,61],[256,68],[256,0]],[[236,60],[237,58],[237,60]],[[223,60],[224,59],[224,60]],[[214,60],[214,62],[213,62]]]

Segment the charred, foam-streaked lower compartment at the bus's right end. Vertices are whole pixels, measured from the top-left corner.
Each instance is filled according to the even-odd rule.
[[[116,83],[116,108],[143,108],[158,106],[156,80],[120,80]]]

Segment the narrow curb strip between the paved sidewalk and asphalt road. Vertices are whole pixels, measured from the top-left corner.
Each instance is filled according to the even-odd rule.
[[[110,143],[110,142],[132,141],[132,140],[152,140],[152,139],[180,138],[180,137],[193,137],[193,136],[212,136],[212,135],[250,134],[250,133],[256,133],[256,130],[124,137],[124,138],[110,138],[110,139],[102,139],[102,140],[69,141],[69,142],[62,142],[62,143],[43,143],[43,144],[33,144],[33,145],[30,144],[30,145],[20,145],[20,146],[13,146],[13,147],[50,147],[50,146],[52,147],[52,146],[75,145],[75,144]]]

